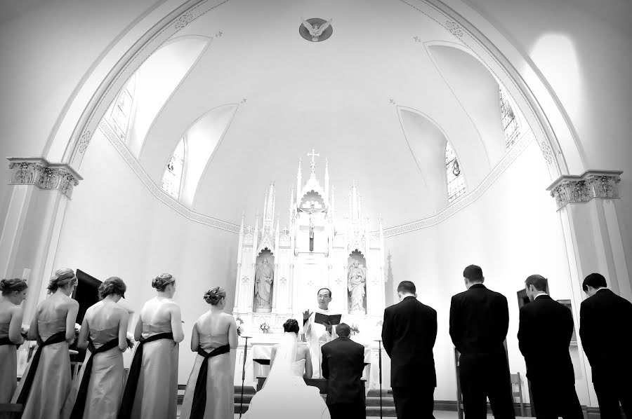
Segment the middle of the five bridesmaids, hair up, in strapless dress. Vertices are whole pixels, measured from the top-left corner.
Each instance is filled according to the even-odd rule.
[[[127,287],[110,277],[99,287],[101,301],[88,308],[77,347],[88,348],[74,379],[62,418],[116,419],[123,394],[123,352],[127,349],[129,312],[118,301]]]

